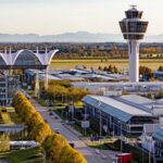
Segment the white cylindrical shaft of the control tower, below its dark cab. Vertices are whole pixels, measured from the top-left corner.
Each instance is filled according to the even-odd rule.
[[[139,82],[139,41],[130,40],[129,48],[129,82]]]

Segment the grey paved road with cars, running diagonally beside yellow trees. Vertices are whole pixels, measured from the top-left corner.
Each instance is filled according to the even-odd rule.
[[[36,100],[30,98],[32,104],[35,106],[37,112],[40,113],[43,120],[47,120],[51,130],[54,131],[57,128],[59,133],[71,142],[74,142],[75,149],[78,150],[88,161],[88,163],[111,163],[112,159],[114,158],[115,153],[113,151],[101,150],[101,154],[96,153],[96,149],[90,148],[87,146],[87,140],[79,139],[78,136],[80,135],[77,130],[67,126],[66,124],[62,123],[62,120],[53,113],[53,115],[49,115],[49,108],[41,106]],[[58,116],[58,120],[55,118]],[[106,160],[102,159],[102,154],[106,155]]]

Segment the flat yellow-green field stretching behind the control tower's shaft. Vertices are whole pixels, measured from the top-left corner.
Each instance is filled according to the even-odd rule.
[[[117,68],[128,68],[127,59],[109,59],[108,61],[101,60],[52,60],[50,68],[74,68],[75,66],[85,65],[87,68],[98,68],[99,65],[108,66],[115,65]],[[153,71],[158,70],[160,65],[163,65],[163,59],[140,59],[140,65],[148,66]]]

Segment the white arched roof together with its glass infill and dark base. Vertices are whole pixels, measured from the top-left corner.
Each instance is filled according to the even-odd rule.
[[[45,53],[35,53],[32,50],[22,49],[14,53],[11,52],[0,53],[0,70],[14,70],[14,68],[46,68],[53,55],[59,50],[51,50]]]

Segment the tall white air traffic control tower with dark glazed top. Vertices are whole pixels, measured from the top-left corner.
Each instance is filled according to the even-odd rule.
[[[126,18],[120,22],[124,39],[128,40],[129,82],[139,82],[139,40],[143,39],[148,22],[142,21],[142,11],[136,5],[125,12]]]

